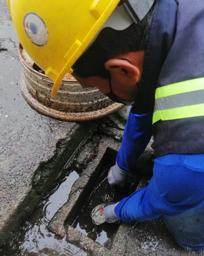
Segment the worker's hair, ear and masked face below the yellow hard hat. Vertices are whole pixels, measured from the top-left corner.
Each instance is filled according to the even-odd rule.
[[[131,24],[127,29],[118,31],[106,27],[100,32],[73,65],[72,75],[82,86],[95,86],[114,101],[117,98],[129,103],[134,101],[142,75],[153,10],[154,6],[142,21]]]

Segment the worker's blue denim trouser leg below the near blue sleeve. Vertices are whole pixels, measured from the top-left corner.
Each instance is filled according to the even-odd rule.
[[[204,206],[176,217],[163,216],[163,219],[181,247],[198,252],[204,249]]]

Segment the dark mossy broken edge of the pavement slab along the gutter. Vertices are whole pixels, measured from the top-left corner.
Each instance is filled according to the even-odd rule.
[[[76,124],[71,130],[71,134],[67,134],[66,139],[58,141],[54,155],[47,162],[40,163],[32,177],[32,186],[27,196],[19,204],[15,213],[10,215],[0,231],[0,245],[15,238],[20,223],[32,213],[45,193],[53,188],[67,159],[73,155],[87,133],[93,133],[94,126],[94,122]],[[61,143],[63,147],[60,146]],[[39,173],[43,173],[40,180],[38,179]]]

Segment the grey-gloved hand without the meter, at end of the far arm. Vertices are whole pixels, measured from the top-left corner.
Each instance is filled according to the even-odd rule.
[[[116,165],[111,167],[108,173],[108,182],[112,187],[113,186],[123,187],[125,185],[127,174],[128,174],[128,171],[124,171],[120,169],[120,167],[116,163]]]

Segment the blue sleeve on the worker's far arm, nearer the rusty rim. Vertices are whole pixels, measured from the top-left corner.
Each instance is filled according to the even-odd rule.
[[[145,150],[152,136],[152,112],[147,114],[129,113],[122,145],[116,162],[122,170],[128,171]]]

